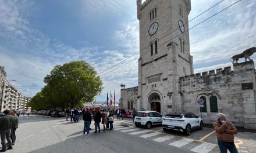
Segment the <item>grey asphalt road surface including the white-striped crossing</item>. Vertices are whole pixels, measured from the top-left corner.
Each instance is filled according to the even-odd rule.
[[[7,152],[219,152],[212,128],[195,130],[190,136],[163,132],[161,126],[150,130],[137,128],[130,119],[114,121],[114,129],[83,134],[83,122],[65,118],[20,116],[17,141]],[[239,152],[255,152],[256,133],[239,132],[235,139]]]

